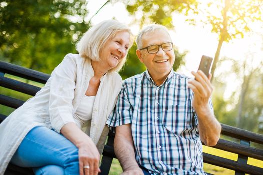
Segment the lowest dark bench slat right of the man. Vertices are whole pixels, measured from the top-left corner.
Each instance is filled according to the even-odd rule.
[[[213,164],[215,166],[224,167],[227,169],[237,170],[247,174],[262,175],[263,168],[252,166],[252,165],[243,165],[238,164],[237,161],[229,160],[226,158],[218,157],[215,155],[203,153],[203,161],[205,163]]]

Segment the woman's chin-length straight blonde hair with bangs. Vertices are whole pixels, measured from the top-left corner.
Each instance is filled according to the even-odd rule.
[[[134,41],[133,34],[125,24],[116,20],[104,20],[89,28],[89,30],[84,33],[82,38],[77,43],[76,49],[85,59],[99,61],[105,43],[109,39],[113,38],[117,32],[121,31],[127,31],[130,34],[129,50]],[[116,67],[110,69],[109,72],[120,71],[125,64],[126,57],[127,55],[121,59]]]

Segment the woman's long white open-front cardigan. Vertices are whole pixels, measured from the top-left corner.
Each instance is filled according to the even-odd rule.
[[[0,174],[4,174],[21,141],[33,127],[45,126],[60,133],[66,123],[75,122],[73,114],[93,75],[90,60],[78,54],[67,54],[45,86],[0,124]],[[108,72],[101,78],[92,119],[81,128],[97,145],[100,153],[108,134],[105,123],[121,86],[121,76],[116,72]]]

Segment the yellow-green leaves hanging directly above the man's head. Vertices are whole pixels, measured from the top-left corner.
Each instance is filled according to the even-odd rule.
[[[135,16],[134,22],[148,24],[155,22],[172,28],[172,14],[197,14],[196,0],[122,0],[128,12]]]

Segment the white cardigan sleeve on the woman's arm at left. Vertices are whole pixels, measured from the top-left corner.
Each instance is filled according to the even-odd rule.
[[[74,122],[73,105],[74,89],[76,87],[77,65],[71,54],[54,69],[50,77],[49,115],[51,126],[58,133],[61,128]]]

